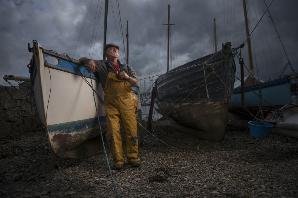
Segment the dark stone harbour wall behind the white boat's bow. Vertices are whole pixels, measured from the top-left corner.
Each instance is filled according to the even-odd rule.
[[[41,126],[28,89],[0,85],[0,126],[0,137],[36,131]]]

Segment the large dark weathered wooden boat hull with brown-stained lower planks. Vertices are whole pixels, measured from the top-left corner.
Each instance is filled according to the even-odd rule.
[[[204,139],[221,141],[226,133],[235,61],[231,43],[160,76],[156,104],[173,126]]]

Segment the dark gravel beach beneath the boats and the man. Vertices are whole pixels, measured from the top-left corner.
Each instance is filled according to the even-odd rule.
[[[233,125],[222,142],[179,132],[169,120],[152,128],[176,149],[144,132],[141,166],[112,170],[120,197],[298,197],[298,140],[262,140]],[[58,159],[37,131],[0,139],[0,156],[0,197],[116,197],[103,149]]]

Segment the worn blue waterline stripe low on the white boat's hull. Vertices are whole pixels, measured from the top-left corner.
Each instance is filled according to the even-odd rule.
[[[100,116],[99,117],[100,124],[105,124],[105,116]],[[59,133],[72,133],[76,131],[82,131],[82,130],[89,130],[93,129],[95,127],[98,127],[98,120],[97,117],[85,119],[85,120],[77,120],[77,121],[72,121],[72,122],[66,122],[66,123],[60,123],[60,124],[53,124],[49,125],[48,131],[49,133],[51,132],[59,132]]]

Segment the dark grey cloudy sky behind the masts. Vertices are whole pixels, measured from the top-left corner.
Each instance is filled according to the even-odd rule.
[[[265,0],[267,6],[271,1]],[[120,58],[125,61],[122,32],[126,45],[128,21],[129,64],[139,79],[166,72],[167,25],[162,24],[167,23],[168,4],[170,23],[175,24],[171,26],[170,68],[214,52],[214,18],[219,49],[226,41],[235,47],[246,40],[241,0],[119,0],[120,10],[117,0],[110,0],[107,43],[119,44]],[[266,6],[263,0],[247,0],[247,6],[251,31]],[[274,0],[269,12],[298,72],[298,1]],[[0,84],[9,85],[2,79],[5,74],[29,76],[27,64],[32,53],[27,43],[32,46],[33,39],[45,49],[76,59],[102,59],[103,13],[103,0],[0,0]],[[255,74],[263,80],[278,77],[288,61],[268,12],[252,33],[251,42]],[[242,54],[248,66],[246,48]],[[240,71],[238,58],[235,61]],[[288,66],[284,74],[290,73]]]

